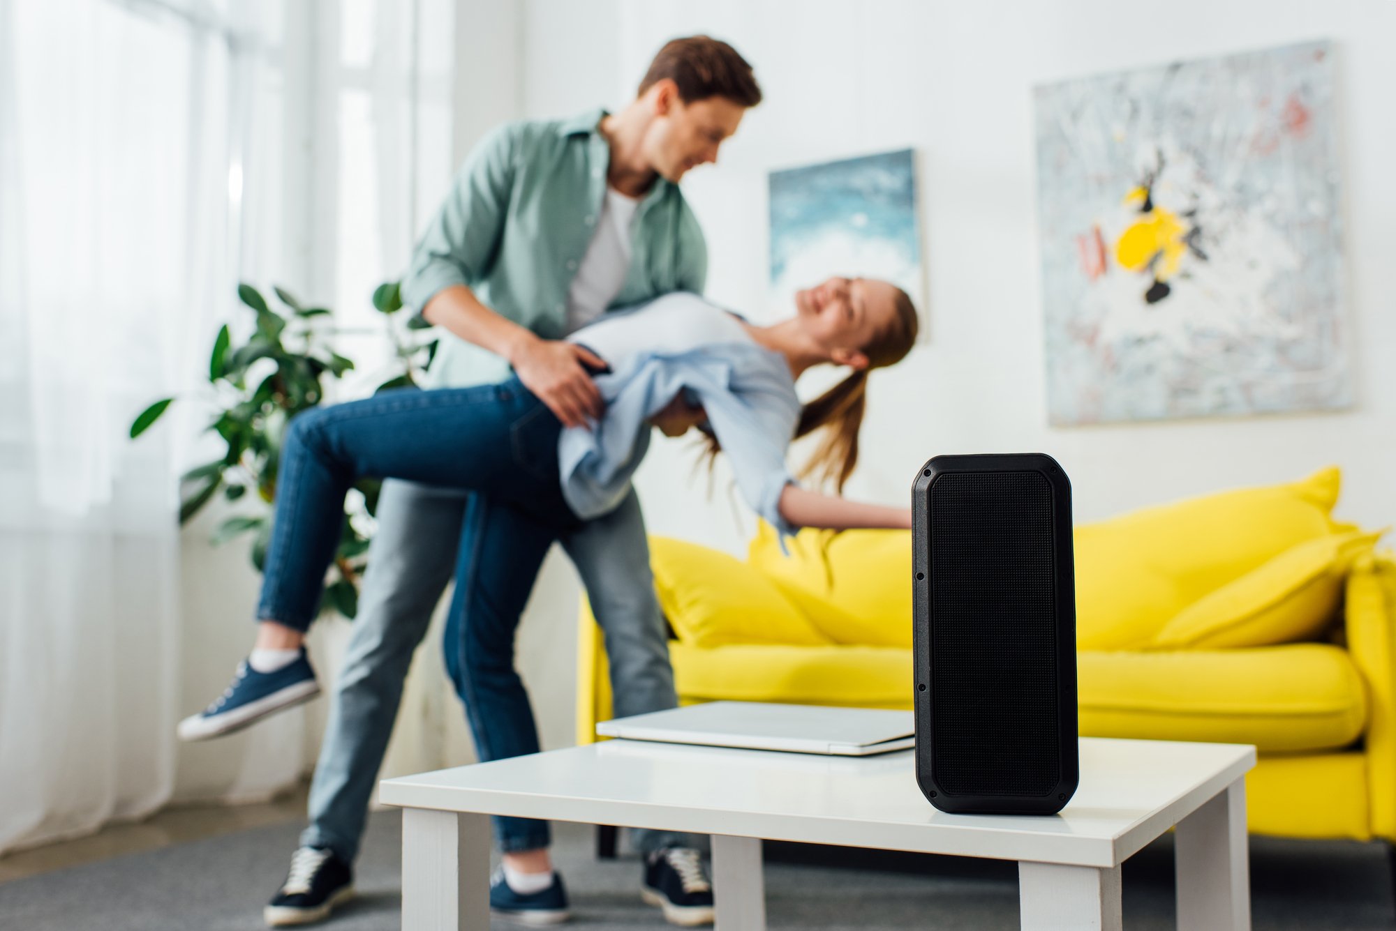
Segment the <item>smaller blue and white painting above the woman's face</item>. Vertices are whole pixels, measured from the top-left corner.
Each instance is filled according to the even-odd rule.
[[[782,305],[847,275],[892,282],[924,314],[920,243],[912,149],[771,173],[771,286]]]

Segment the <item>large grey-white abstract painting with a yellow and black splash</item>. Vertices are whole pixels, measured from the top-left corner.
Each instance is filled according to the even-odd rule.
[[[1333,50],[1036,89],[1053,424],[1353,403]]]

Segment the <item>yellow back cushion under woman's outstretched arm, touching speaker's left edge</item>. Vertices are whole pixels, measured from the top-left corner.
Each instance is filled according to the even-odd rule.
[[[747,549],[758,569],[831,640],[872,647],[912,645],[912,532],[801,530],[780,552],[761,521]]]

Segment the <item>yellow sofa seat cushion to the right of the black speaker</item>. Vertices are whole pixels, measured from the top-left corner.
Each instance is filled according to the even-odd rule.
[[[1367,691],[1332,644],[1076,654],[1081,733],[1254,743],[1263,751],[1346,747]]]

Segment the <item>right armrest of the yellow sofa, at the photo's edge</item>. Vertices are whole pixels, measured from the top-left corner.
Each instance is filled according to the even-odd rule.
[[[1347,576],[1347,648],[1368,695],[1371,831],[1396,839],[1396,557],[1361,556]]]

